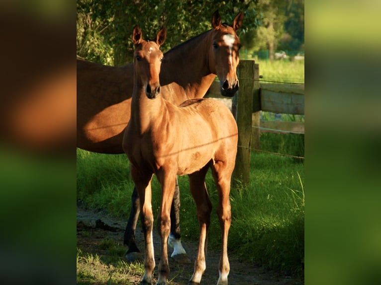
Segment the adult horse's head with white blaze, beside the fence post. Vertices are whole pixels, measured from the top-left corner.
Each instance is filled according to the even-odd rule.
[[[216,10],[212,17],[211,46],[209,48],[209,69],[217,74],[220,80],[220,91],[223,96],[232,97],[239,88],[237,66],[241,43],[236,34],[242,26],[243,13],[240,11],[234,18],[232,26],[221,23]]]

